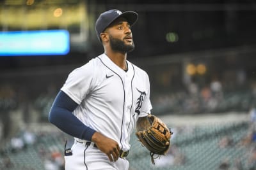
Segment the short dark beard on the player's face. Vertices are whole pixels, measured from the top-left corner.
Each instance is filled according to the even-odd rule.
[[[109,36],[109,43],[113,51],[116,52],[132,52],[134,50],[134,43],[132,42],[132,45],[125,45],[124,41],[113,38],[113,36]]]

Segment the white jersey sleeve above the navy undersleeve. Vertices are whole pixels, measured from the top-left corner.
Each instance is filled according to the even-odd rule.
[[[77,104],[80,104],[92,90],[93,68],[91,60],[84,66],[74,69],[61,87],[61,90]]]

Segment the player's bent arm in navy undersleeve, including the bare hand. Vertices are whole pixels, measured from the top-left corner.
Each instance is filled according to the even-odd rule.
[[[116,161],[120,154],[118,143],[84,125],[83,122],[74,116],[72,112],[77,106],[78,104],[75,101],[67,96],[65,92],[60,90],[52,104],[49,113],[49,122],[71,136],[87,141],[93,141],[98,146],[99,150],[108,155],[111,162]]]

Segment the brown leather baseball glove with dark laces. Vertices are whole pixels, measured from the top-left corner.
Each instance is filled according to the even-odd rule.
[[[142,145],[150,151],[151,162],[155,164],[154,159],[168,152],[173,132],[154,115],[148,115],[147,120],[150,125],[147,129],[136,132],[136,136]],[[154,155],[158,156],[154,157]]]

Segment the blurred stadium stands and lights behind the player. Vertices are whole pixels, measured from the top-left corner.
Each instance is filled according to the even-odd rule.
[[[155,166],[133,135],[130,169],[256,169],[256,1],[0,4],[0,169],[64,169],[72,138],[48,123],[49,109],[68,73],[103,52],[94,23],[113,8],[139,13],[129,60],[148,72],[152,112],[174,132]],[[52,30],[66,39],[42,36]]]

